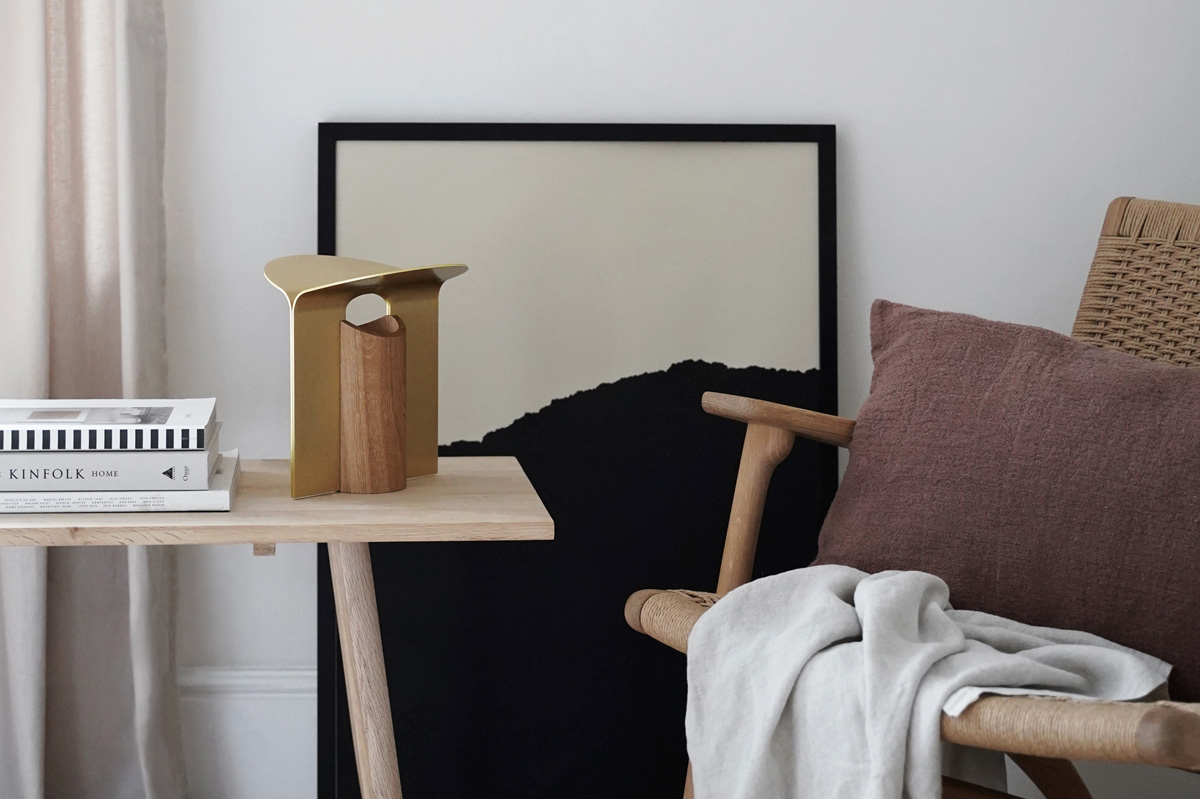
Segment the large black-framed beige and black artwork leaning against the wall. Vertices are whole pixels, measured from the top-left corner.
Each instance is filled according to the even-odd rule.
[[[745,427],[702,392],[836,411],[834,209],[832,125],[320,126],[319,252],[469,266],[440,453],[515,455],[556,523],[373,547],[406,795],[678,793],[684,659],[622,608],[715,588]],[[797,441],[773,485],[756,575],[811,560],[833,447]],[[318,579],[319,792],[350,797]]]

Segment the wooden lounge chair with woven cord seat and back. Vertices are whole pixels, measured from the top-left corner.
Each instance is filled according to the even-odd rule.
[[[1072,335],[1200,366],[1200,206],[1114,200]],[[767,486],[794,437],[848,446],[854,434],[851,419],[772,402],[706,394],[702,404],[748,426],[716,591],[641,590],[625,603],[631,627],[679,651],[696,620],[750,579]],[[956,719],[943,716],[942,738],[1009,753],[1046,799],[1088,799],[1072,759],[1200,771],[1200,703],[992,696]],[[950,779],[943,789],[948,799],[1010,795]],[[691,797],[690,769],[684,797]]]

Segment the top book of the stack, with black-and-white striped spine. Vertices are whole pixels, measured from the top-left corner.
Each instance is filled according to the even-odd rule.
[[[0,400],[0,451],[203,450],[216,400]]]

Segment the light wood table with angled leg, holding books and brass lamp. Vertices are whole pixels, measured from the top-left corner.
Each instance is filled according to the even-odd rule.
[[[368,542],[544,540],[554,523],[511,457],[440,458],[391,494],[292,499],[289,474],[287,461],[242,461],[229,512],[0,515],[0,546],[328,543],[362,795],[400,799]]]

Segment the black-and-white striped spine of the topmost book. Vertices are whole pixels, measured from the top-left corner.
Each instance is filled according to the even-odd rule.
[[[0,452],[103,452],[208,449],[211,427],[164,425],[0,425]]]

